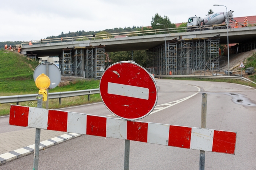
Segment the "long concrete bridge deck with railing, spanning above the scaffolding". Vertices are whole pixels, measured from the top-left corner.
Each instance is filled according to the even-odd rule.
[[[180,28],[179,28],[180,29]],[[227,29],[207,31],[178,32],[182,30],[158,29],[137,32],[124,32],[83,37],[64,37],[58,39],[44,39],[22,44],[23,54],[37,54],[42,56],[59,56],[63,49],[84,48],[90,46],[104,46],[106,52],[146,50],[163,45],[166,42],[179,39],[204,39],[218,37],[221,44],[227,43]],[[185,31],[185,29],[183,30]],[[228,29],[229,43],[241,43],[256,39],[256,26]],[[103,38],[103,39],[102,39]]]

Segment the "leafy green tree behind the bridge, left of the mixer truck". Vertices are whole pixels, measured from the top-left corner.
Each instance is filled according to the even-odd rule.
[[[164,17],[161,17],[158,13],[155,14],[154,17],[152,17],[151,26],[152,29],[163,29],[163,25],[156,25],[157,23],[165,25],[165,28],[175,28],[176,25],[170,22],[170,19],[164,15]]]

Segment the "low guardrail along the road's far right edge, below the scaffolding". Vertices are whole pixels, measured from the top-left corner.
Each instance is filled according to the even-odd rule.
[[[190,78],[206,78],[206,79],[237,79],[243,80],[246,82],[251,82],[256,84],[255,82],[245,78],[245,77],[235,77],[235,76],[199,76],[199,75],[155,75],[155,77],[190,77]]]

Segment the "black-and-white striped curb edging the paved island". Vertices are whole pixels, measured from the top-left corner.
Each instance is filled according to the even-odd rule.
[[[57,136],[55,138],[48,139],[46,141],[40,142],[39,150],[51,147],[53,145],[60,144],[64,141],[68,141],[69,139],[73,139],[81,136],[81,134],[77,133],[66,133],[61,136]],[[9,151],[7,153],[3,153],[0,155],[0,165],[4,164],[8,161],[12,161],[14,159],[20,158],[22,156],[29,155],[30,153],[34,153],[35,144],[29,145],[27,147],[23,147],[14,151]]]

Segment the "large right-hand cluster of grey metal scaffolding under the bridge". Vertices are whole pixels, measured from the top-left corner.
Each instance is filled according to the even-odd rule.
[[[147,67],[155,74],[188,75],[193,70],[219,69],[219,39],[180,39],[147,51]],[[167,69],[165,70],[165,67]]]

